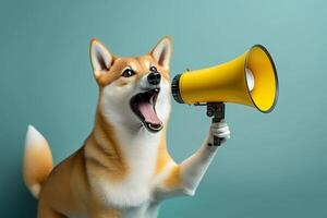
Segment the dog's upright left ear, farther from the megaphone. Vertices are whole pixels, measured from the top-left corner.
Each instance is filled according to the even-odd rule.
[[[98,39],[92,39],[89,45],[89,57],[95,77],[106,74],[111,68],[113,56]]]

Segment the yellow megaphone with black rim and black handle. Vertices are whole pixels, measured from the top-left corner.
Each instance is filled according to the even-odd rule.
[[[178,74],[171,84],[175,101],[206,105],[213,122],[225,117],[225,104],[234,102],[270,112],[278,97],[278,77],[268,50],[262,45],[251,47],[238,58],[207,69]],[[214,138],[220,145],[220,138]]]

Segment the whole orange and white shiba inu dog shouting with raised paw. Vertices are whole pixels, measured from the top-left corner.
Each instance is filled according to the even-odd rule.
[[[113,56],[97,39],[89,55],[99,96],[84,145],[52,168],[45,137],[26,134],[23,175],[39,199],[39,218],[154,218],[167,197],[194,195],[217,147],[229,138],[225,121],[214,123],[199,149],[181,164],[167,150],[170,114],[171,39],[145,56]]]

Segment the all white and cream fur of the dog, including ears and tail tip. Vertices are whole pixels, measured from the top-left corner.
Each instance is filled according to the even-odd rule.
[[[165,69],[169,69],[171,58],[171,43],[164,38],[152,51],[155,60]],[[97,40],[90,45],[90,59],[95,76],[107,73],[112,64],[112,56],[106,47]],[[149,65],[149,63],[147,63]],[[147,81],[145,74],[140,82],[131,81],[124,86],[112,82],[104,87],[99,101],[99,110],[113,126],[121,153],[126,161],[129,173],[123,181],[110,183],[100,177],[89,177],[93,191],[104,199],[104,204],[110,209],[120,209],[124,218],[156,218],[159,203],[167,197],[175,195],[194,195],[206,169],[210,165],[217,147],[213,144],[214,136],[222,137],[222,143],[230,137],[230,131],[226,122],[214,123],[210,126],[207,140],[201,148],[180,165],[181,184],[175,187],[167,187],[165,181],[170,177],[171,170],[177,164],[171,160],[165,169],[155,175],[158,146],[161,134],[152,133],[134,114],[130,107],[131,98],[147,89],[157,87]],[[125,80],[135,80],[133,76]],[[160,93],[156,101],[158,118],[167,125],[170,113],[170,84],[165,78],[160,82]],[[95,134],[98,142],[99,135]],[[48,146],[45,137],[32,125],[28,126],[26,136],[26,149]],[[45,147],[43,147],[45,148]],[[40,186],[32,185],[32,193],[39,192]],[[88,217],[87,211],[70,217]]]

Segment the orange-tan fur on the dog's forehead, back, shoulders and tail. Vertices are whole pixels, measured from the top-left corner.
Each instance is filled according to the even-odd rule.
[[[92,44],[94,43],[99,41],[93,39]],[[47,144],[40,146],[41,149],[36,147],[26,149],[24,179],[29,189],[34,184],[39,185],[36,191],[37,194],[39,193],[39,218],[63,218],[76,216],[76,213],[84,213],[93,218],[122,217],[120,209],[104,201],[102,193],[98,193],[97,184],[94,184],[92,180],[93,178],[101,179],[108,184],[116,185],[122,183],[131,173],[131,166],[128,165],[122,145],[117,138],[119,132],[111,121],[105,118],[105,111],[101,111],[100,105],[104,100],[101,96],[109,84],[114,83],[123,87],[131,82],[137,82],[145,73],[148,73],[150,64],[158,69],[164,80],[169,81],[169,70],[157,63],[152,52],[136,58],[112,56],[111,68],[108,71],[105,69],[106,72],[95,74],[99,86],[95,126],[84,145],[55,169],[52,169],[52,157]],[[136,76],[122,77],[122,71],[130,65],[133,66]],[[149,168],[150,172],[154,169],[154,177],[162,173],[169,162],[173,162],[167,150],[166,128],[160,134],[159,144],[154,145],[158,146],[157,157],[152,164],[153,168]],[[180,168],[174,167],[165,180],[165,184],[172,187],[179,183]]]

